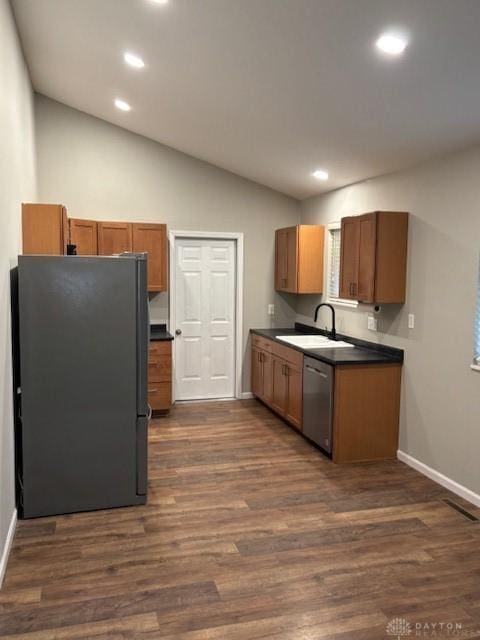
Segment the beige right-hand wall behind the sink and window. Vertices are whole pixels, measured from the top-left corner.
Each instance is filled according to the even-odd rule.
[[[405,349],[400,449],[480,493],[480,374],[473,356],[480,250],[480,148],[302,202],[302,222],[375,210],[409,211],[408,293],[385,306],[379,332],[367,311],[337,308],[340,330]],[[298,304],[310,318],[318,298]],[[407,316],[415,314],[415,328]],[[328,322],[323,316],[319,324]]]

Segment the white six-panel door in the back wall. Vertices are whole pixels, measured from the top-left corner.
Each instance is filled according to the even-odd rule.
[[[174,295],[175,399],[233,397],[235,241],[177,238]]]

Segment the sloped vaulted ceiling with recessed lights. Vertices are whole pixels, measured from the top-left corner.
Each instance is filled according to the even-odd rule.
[[[298,198],[480,142],[478,0],[12,4],[38,92]]]

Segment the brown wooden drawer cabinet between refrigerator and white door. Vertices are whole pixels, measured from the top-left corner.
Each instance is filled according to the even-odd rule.
[[[172,406],[172,343],[150,342],[148,349],[148,404],[152,411]]]

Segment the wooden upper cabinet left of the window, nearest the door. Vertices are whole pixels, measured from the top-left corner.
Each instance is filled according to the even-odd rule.
[[[275,232],[275,289],[288,293],[323,292],[321,225],[300,224]]]

